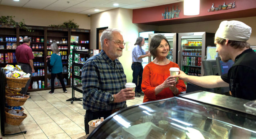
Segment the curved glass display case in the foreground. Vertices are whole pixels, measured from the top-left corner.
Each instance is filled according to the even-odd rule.
[[[202,95],[202,93],[199,93],[199,95]],[[214,98],[215,95],[220,94],[210,92],[206,94],[206,96],[209,96],[208,100]],[[180,133],[179,135],[181,136],[175,135],[180,138],[186,138],[186,136],[188,136],[188,129],[191,128],[200,131],[205,138],[218,138],[220,137],[219,135],[223,135],[224,138],[256,137],[256,116],[242,110],[242,106],[240,109],[236,109],[236,106],[230,106],[231,103],[220,106],[216,105],[218,103],[209,104],[210,101],[207,100],[204,102],[201,102],[200,99],[190,100],[185,98],[185,96],[186,95],[183,97],[180,96],[146,102],[120,110],[106,118],[103,123],[96,127],[96,129],[90,133],[88,139],[96,139],[99,137],[114,139],[118,137],[118,135],[121,135],[120,132],[122,132],[124,128],[127,127],[128,129],[133,125],[146,123],[148,119],[145,118],[145,116],[150,116],[150,114],[153,115],[154,118],[151,118],[149,121],[156,126],[159,126],[158,122],[162,120],[169,122],[170,126],[167,130],[164,130],[163,133],[166,138],[172,138],[172,134],[170,134],[169,130],[172,129],[170,127],[174,127],[175,124],[176,129],[178,129],[178,126],[184,127],[184,129],[180,128],[178,129],[179,131],[175,131],[175,133]],[[249,101],[231,96],[223,95],[223,97],[230,100],[230,102],[238,100],[241,103],[246,103]],[[223,101],[223,99],[220,101]],[[205,102],[208,102],[208,104]],[[172,125],[172,123],[175,124]],[[185,125],[185,123],[188,125]],[[142,132],[143,128],[140,129]],[[221,131],[222,129],[223,132]],[[174,131],[174,129],[172,131]],[[136,133],[134,134],[136,135]],[[149,134],[144,136],[148,137],[148,135]],[[125,136],[122,135],[122,137],[126,139]]]

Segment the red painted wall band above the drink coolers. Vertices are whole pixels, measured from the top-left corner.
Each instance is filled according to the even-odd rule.
[[[149,8],[141,8],[141,9],[134,9],[133,10],[133,16],[132,16],[132,23],[171,23],[175,20],[181,20],[183,21],[185,19],[194,18],[194,19],[200,19],[201,18],[209,18],[208,16],[212,16],[213,19],[210,20],[217,20],[218,14],[220,16],[223,16],[223,14],[233,13],[234,16],[238,16],[237,18],[242,17],[248,17],[248,16],[254,16],[256,12],[253,12],[254,9],[256,9],[256,0],[236,0],[236,8],[228,9],[228,10],[219,10],[214,12],[208,12],[208,9],[211,8],[212,3],[214,3],[214,7],[218,7],[218,5],[223,5],[224,2],[226,2],[226,5],[228,3],[233,3],[234,0],[200,0],[200,13],[196,16],[184,16],[184,10],[183,10],[183,2],[173,3],[173,4],[167,4],[162,6],[155,6],[155,7],[149,7]],[[170,11],[170,7],[174,6],[174,10],[176,10],[176,6],[178,5],[178,9],[180,10],[180,18],[173,18],[173,19],[165,19],[162,20],[162,13],[164,13],[164,8],[167,8]],[[248,10],[248,12],[245,12]],[[239,11],[242,11],[241,13],[244,15],[239,15]],[[242,17],[241,17],[242,16]],[[216,19],[215,19],[216,18]],[[178,23],[178,22],[177,22]]]

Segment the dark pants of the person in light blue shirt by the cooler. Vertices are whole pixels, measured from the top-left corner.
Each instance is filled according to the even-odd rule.
[[[143,67],[142,64],[139,62],[132,63],[132,82],[136,84],[135,92],[141,91],[141,82],[142,82],[142,73],[143,73]],[[139,77],[139,82],[138,82]]]

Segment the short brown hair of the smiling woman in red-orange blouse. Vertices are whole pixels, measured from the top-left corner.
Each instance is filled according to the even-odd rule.
[[[166,37],[164,37],[164,35],[160,35],[160,34],[154,35],[152,37],[152,39],[150,41],[150,45],[149,45],[149,51],[153,57],[157,57],[156,48],[160,45],[160,43],[163,39],[168,43],[169,51],[170,51],[170,44],[169,44],[168,40],[166,39]]]

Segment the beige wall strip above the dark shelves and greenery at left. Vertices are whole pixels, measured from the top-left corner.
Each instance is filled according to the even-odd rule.
[[[24,19],[26,25],[38,26],[58,25],[74,19],[74,22],[79,25],[79,28],[90,29],[90,17],[85,14],[0,5],[0,16],[15,16],[14,20],[16,22]]]

